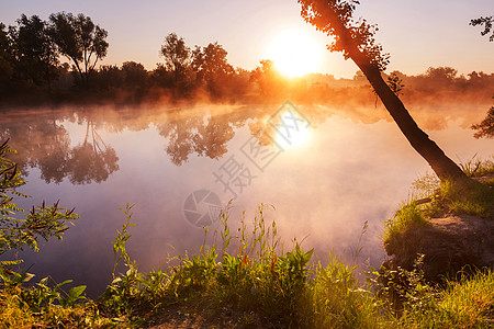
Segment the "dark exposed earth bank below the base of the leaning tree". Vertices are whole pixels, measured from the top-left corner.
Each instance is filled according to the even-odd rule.
[[[494,174],[475,178],[492,182]],[[384,245],[393,258],[383,265],[412,270],[417,254],[424,254],[425,279],[439,282],[454,277],[458,271],[494,269],[494,216],[480,218],[467,214],[446,213],[430,218],[429,226],[412,227]]]

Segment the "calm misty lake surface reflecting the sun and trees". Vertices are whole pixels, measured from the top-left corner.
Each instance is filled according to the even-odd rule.
[[[20,191],[32,198],[76,207],[81,218],[64,241],[42,242],[41,252],[22,252],[24,268],[36,279],[74,279],[97,296],[111,280],[112,241],[125,220],[119,208],[134,204],[127,242],[141,271],[166,266],[169,256],[199,251],[204,231],[187,220],[183,206],[193,191],[214,192],[225,205],[234,195],[214,173],[236,159],[251,173],[250,184],[233,201],[229,225],[245,211],[254,219],[259,204],[276,209],[274,219],[285,249],[292,239],[315,248],[324,260],[328,250],[350,259],[361,229],[359,260],[377,266],[384,259],[380,234],[383,220],[409,195],[409,184],[430,172],[381,106],[348,109],[296,106],[310,122],[299,146],[280,151],[262,170],[243,152],[246,143],[268,131],[279,105],[187,109],[64,109],[2,114],[1,139],[11,138],[14,160],[27,184]],[[471,124],[489,104],[416,105],[412,115],[456,161],[492,156],[492,139],[474,139]],[[274,147],[274,139],[262,139]],[[233,158],[232,158],[233,157]],[[238,191],[237,191],[238,192]],[[212,225],[210,231],[218,228]],[[233,229],[234,230],[234,229]]]

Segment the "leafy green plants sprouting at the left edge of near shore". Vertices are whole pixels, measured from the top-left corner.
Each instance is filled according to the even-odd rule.
[[[63,234],[68,229],[67,224],[79,217],[74,209],[59,207],[58,202],[53,206],[43,202],[41,206],[33,206],[24,218],[20,217],[24,211],[13,201],[15,197],[27,196],[15,190],[24,184],[24,181],[20,178],[15,163],[7,158],[13,152],[15,151],[8,146],[8,140],[0,146],[0,254],[13,249],[22,250],[25,246],[37,252],[38,238],[45,241],[50,237],[61,240]],[[72,282],[71,280],[49,287],[48,277],[45,277],[31,288],[23,287],[34,274],[9,269],[20,263],[22,260],[0,262],[0,305],[5,307],[0,313],[0,326],[11,327],[30,321],[34,324],[34,314],[40,314],[46,317],[50,325],[58,326],[63,322],[59,319],[64,311],[54,311],[55,308],[70,308],[77,302],[86,299],[82,296],[86,285],[75,286],[68,293],[61,290],[61,286]],[[19,315],[19,318],[25,317],[25,321],[19,324],[19,319],[14,318],[12,322],[9,318],[13,314]]]

